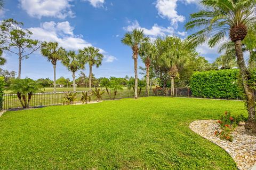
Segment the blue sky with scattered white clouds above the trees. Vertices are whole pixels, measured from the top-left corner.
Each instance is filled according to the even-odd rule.
[[[105,55],[96,77],[133,76],[130,47],[121,43],[127,31],[140,28],[151,38],[177,35],[186,38],[184,24],[189,14],[200,9],[197,0],[11,0],[5,1],[1,19],[13,18],[31,30],[33,38],[57,41],[66,50],[93,45]],[[212,62],[217,47],[206,44],[197,51]],[[5,53],[4,69],[18,71],[18,56]],[[143,66],[139,62],[139,66]],[[88,75],[89,69],[83,70]],[[77,74],[78,75],[78,74]],[[57,77],[71,78],[71,73],[57,64]],[[22,60],[21,77],[53,78],[53,68],[39,51]]]

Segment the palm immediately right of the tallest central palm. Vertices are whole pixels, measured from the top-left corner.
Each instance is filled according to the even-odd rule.
[[[151,60],[156,54],[156,48],[151,43],[142,43],[139,50],[139,55],[146,66],[146,96],[149,95],[149,68],[151,66]]]

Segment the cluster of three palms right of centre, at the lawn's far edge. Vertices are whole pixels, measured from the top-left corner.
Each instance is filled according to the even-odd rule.
[[[138,98],[138,76],[137,76],[137,60],[138,55],[146,67],[146,95],[149,94],[149,69],[150,66],[154,72],[167,72],[167,76],[171,79],[171,95],[174,95],[174,79],[179,78],[178,66],[182,66],[194,48],[189,47],[187,41],[182,41],[178,37],[166,36],[165,38],[156,38],[155,41],[150,41],[143,34],[143,30],[134,29],[131,33],[126,33],[122,39],[122,43],[131,46],[134,59],[134,74],[135,74],[135,90],[134,98]],[[164,71],[163,71],[164,70]],[[165,86],[165,85],[164,85]]]

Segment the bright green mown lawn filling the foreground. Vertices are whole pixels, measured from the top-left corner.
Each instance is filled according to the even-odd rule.
[[[0,169],[236,169],[189,129],[243,102],[149,97],[9,111],[0,117]]]

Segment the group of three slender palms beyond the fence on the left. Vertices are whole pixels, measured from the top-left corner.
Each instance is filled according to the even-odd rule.
[[[103,54],[100,53],[99,48],[93,46],[84,47],[82,50],[78,50],[76,54],[75,51],[66,51],[64,48],[60,47],[57,42],[43,42],[41,45],[41,53],[47,58],[49,62],[53,65],[53,86],[54,92],[56,92],[56,65],[57,61],[67,67],[69,71],[72,72],[73,77],[73,90],[76,91],[76,76],[77,70],[85,68],[85,64],[89,64],[89,91],[92,89],[92,67],[97,68],[101,65]]]

